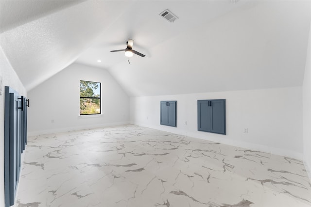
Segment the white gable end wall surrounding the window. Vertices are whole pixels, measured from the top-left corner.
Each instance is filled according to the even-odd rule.
[[[79,115],[80,80],[101,82],[102,115]],[[129,123],[129,97],[105,69],[71,64],[28,97],[29,135]]]

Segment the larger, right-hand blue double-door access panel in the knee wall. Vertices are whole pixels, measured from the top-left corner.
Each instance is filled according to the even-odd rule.
[[[198,100],[198,130],[225,134],[225,99]]]

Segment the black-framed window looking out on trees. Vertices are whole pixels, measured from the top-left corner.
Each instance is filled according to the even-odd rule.
[[[80,115],[101,114],[101,83],[80,80]]]

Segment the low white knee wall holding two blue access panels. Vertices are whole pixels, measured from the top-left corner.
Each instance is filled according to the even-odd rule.
[[[197,130],[198,99],[226,99],[226,135]],[[161,100],[177,100],[177,127],[160,125]],[[302,159],[301,87],[131,97],[130,112],[140,126]]]

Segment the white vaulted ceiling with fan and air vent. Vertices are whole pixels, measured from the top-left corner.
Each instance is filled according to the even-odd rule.
[[[0,44],[27,90],[73,62],[107,69],[129,96],[291,87],[310,19],[306,0],[1,0]],[[146,57],[109,52],[128,38]]]

